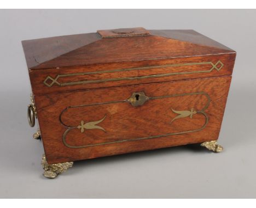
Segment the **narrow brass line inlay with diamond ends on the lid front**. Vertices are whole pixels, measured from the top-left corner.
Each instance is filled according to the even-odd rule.
[[[212,67],[209,70],[202,71],[184,71],[184,72],[173,72],[168,74],[156,74],[156,75],[147,75],[147,76],[138,76],[138,77],[120,77],[120,78],[108,78],[108,79],[96,79],[96,80],[86,80],[86,81],[78,81],[78,82],[66,82],[60,83],[57,80],[61,77],[72,77],[72,76],[80,76],[80,75],[95,75],[95,74],[103,74],[103,73],[112,73],[118,71],[133,71],[133,70],[144,70],[144,69],[156,69],[156,68],[167,68],[167,67],[177,67],[177,66],[193,66],[193,65],[207,65],[210,64]],[[219,67],[218,67],[219,65]],[[109,82],[109,81],[121,81],[121,80],[133,80],[133,79],[145,79],[145,78],[154,78],[154,77],[168,77],[173,75],[188,75],[188,74],[199,74],[199,73],[208,73],[213,69],[219,71],[222,69],[224,64],[218,60],[216,64],[212,62],[200,62],[200,63],[184,63],[184,64],[168,64],[168,65],[158,65],[158,66],[144,66],[139,68],[130,68],[130,69],[115,69],[115,70],[104,70],[104,71],[92,71],[92,72],[82,72],[82,73],[74,73],[74,74],[62,74],[57,75],[55,78],[51,76],[47,76],[44,80],[44,84],[47,87],[52,87],[54,84],[59,85],[60,87],[75,85],[75,84],[88,84],[88,83],[101,83],[101,82]],[[51,83],[48,83],[48,81]]]

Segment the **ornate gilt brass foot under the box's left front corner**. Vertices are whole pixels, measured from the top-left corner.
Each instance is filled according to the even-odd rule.
[[[57,175],[66,172],[68,168],[73,166],[73,162],[63,162],[63,163],[56,163],[56,164],[48,164],[46,161],[46,157],[43,154],[42,162],[41,162],[43,169],[44,169],[44,176],[49,179],[54,179]]]

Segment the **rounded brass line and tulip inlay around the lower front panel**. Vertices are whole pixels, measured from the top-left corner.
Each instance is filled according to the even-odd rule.
[[[185,93],[185,94],[174,94],[174,95],[167,95],[167,96],[158,96],[158,97],[149,97],[149,100],[154,100],[154,99],[164,99],[164,98],[168,98],[168,97],[177,97],[177,96],[185,96],[185,95],[205,95],[207,97],[207,104],[205,107],[203,107],[200,111],[194,111],[193,108],[191,108],[190,111],[174,111],[172,109],[172,111],[174,113],[177,113],[179,115],[177,115],[177,117],[175,117],[174,119],[172,119],[170,121],[170,123],[172,123],[175,119],[178,118],[184,118],[184,117],[193,117],[193,114],[202,114],[205,117],[205,124],[199,128],[199,129],[195,129],[195,130],[190,130],[190,131],[183,131],[183,132],[175,132],[175,133],[167,133],[167,134],[160,134],[160,135],[156,135],[156,136],[149,136],[149,137],[141,137],[141,138],[134,138],[134,139],[123,139],[123,140],[117,140],[115,142],[104,142],[104,143],[97,143],[97,144],[89,144],[89,145],[82,145],[82,146],[72,146],[67,144],[66,142],[66,136],[67,133],[72,130],[72,129],[80,129],[80,126],[67,126],[65,125],[62,120],[61,120],[61,115],[63,114],[63,112],[65,112],[67,109],[69,108],[77,108],[77,107],[86,107],[86,106],[94,106],[94,105],[106,105],[106,104],[110,104],[110,103],[123,103],[123,102],[129,102],[128,100],[123,100],[123,101],[112,101],[112,102],[103,102],[103,103],[93,103],[93,104],[89,104],[89,105],[80,105],[80,106],[69,106],[67,108],[65,108],[61,114],[60,114],[60,122],[62,125],[66,126],[68,129],[63,133],[62,136],[62,142],[63,144],[65,144],[65,146],[67,146],[68,148],[88,148],[90,146],[99,146],[99,145],[106,145],[106,144],[114,144],[114,143],[122,143],[122,142],[131,142],[131,141],[135,141],[135,140],[142,140],[142,139],[153,139],[153,138],[160,138],[160,137],[166,137],[166,136],[171,136],[171,135],[178,135],[178,134],[184,134],[184,133],[192,133],[192,132],[197,132],[197,131],[201,131],[203,129],[205,129],[205,126],[208,124],[208,115],[205,113],[205,110],[208,108],[208,106],[210,105],[210,96],[205,93],[205,92],[197,92],[197,93]],[[106,118],[107,115],[104,116],[104,118]],[[92,121],[89,123],[95,123],[98,124],[101,121],[103,121],[103,119],[99,120],[99,121]],[[93,128],[96,129],[96,128]],[[97,128],[99,129],[99,128]],[[101,130],[105,131],[103,129],[103,127],[101,127]]]

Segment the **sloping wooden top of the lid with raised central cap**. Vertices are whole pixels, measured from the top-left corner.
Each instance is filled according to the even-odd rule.
[[[124,28],[22,41],[28,69],[235,53],[194,30]]]

